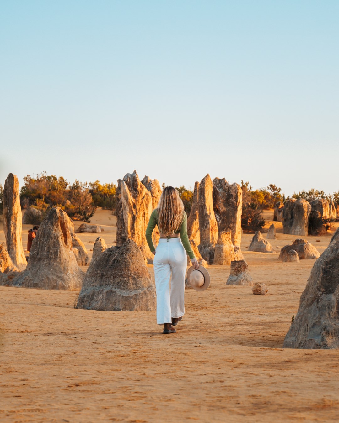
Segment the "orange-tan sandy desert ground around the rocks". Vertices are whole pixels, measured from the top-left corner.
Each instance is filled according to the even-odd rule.
[[[272,216],[265,212],[266,228]],[[92,223],[114,244],[109,211],[97,210]],[[0,420],[336,421],[339,351],[282,349],[314,260],[277,261],[298,237],[275,225],[276,254],[248,252],[253,235],[242,236],[267,295],[226,286],[229,266],[210,266],[211,286],[186,290],[186,314],[172,335],[162,335],[154,312],[77,310],[76,292],[0,287]],[[96,236],[79,235],[88,250]],[[307,239],[321,253],[331,233]]]

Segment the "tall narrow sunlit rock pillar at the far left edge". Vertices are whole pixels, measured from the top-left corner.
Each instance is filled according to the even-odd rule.
[[[10,173],[3,187],[3,232],[5,234],[7,251],[14,266],[24,270],[27,265],[22,247],[22,214],[19,196],[19,181],[16,175]]]

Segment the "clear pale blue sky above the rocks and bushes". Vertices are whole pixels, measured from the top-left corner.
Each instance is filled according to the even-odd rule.
[[[339,190],[339,1],[0,3],[0,181]]]

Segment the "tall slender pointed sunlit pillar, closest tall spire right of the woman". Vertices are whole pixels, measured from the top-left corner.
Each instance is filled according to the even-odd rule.
[[[207,174],[199,184],[199,230],[200,254],[208,264],[212,264],[214,246],[218,239],[218,225],[213,210],[213,185]]]

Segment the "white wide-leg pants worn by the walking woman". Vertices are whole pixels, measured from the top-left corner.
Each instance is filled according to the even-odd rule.
[[[154,256],[156,319],[158,324],[171,323],[172,317],[178,318],[185,314],[186,268],[187,256],[181,239],[159,239]]]

